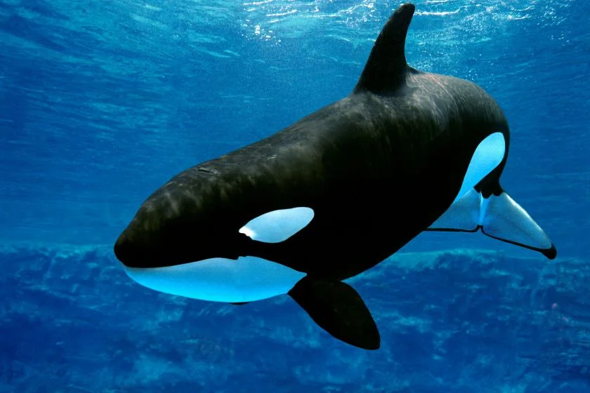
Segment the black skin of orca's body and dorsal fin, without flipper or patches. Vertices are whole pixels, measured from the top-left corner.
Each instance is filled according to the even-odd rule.
[[[444,213],[476,147],[499,131],[506,155],[478,185],[485,195],[498,192],[506,117],[476,84],[407,65],[413,14],[412,4],[395,11],[346,98],[157,189],[117,240],[117,258],[162,267],[255,255],[317,279],[347,279]],[[315,217],[282,243],[238,232],[258,215],[296,206]]]

